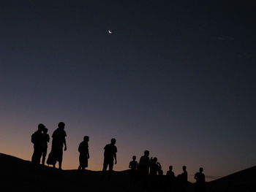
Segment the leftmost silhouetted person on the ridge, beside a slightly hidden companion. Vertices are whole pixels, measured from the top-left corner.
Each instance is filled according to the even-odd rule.
[[[32,155],[31,162],[35,164],[40,163],[40,158],[42,155],[42,130],[44,128],[45,126],[40,123],[37,127],[37,131],[31,135],[31,142],[34,144],[34,153]]]

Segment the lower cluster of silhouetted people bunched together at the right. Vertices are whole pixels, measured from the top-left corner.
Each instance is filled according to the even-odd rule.
[[[129,169],[131,169],[132,183],[135,184],[138,180],[143,179],[143,183],[151,188],[158,188],[165,186],[167,191],[187,191],[187,167],[183,166],[183,172],[178,174],[177,177],[173,172],[173,166],[169,166],[169,170],[166,172],[165,180],[161,180],[163,175],[162,166],[157,161],[157,158],[149,158],[149,151],[145,150],[144,155],[140,157],[140,161],[136,161],[136,156],[132,156],[132,161],[129,162]],[[157,177],[158,175],[158,177]],[[195,191],[205,191],[205,175],[203,174],[203,168],[200,167],[199,172],[194,176]]]

